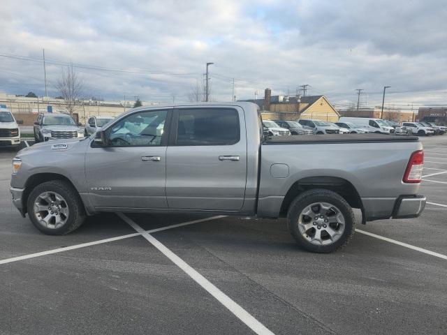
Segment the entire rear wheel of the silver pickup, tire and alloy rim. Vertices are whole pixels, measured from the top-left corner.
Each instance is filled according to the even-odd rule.
[[[301,193],[287,213],[287,225],[302,248],[330,253],[348,244],[356,219],[351,206],[340,195],[325,189]]]

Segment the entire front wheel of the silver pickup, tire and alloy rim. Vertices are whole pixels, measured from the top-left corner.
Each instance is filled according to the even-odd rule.
[[[79,228],[85,219],[78,193],[62,180],[36,186],[28,197],[27,209],[33,225],[49,235],[68,234]]]

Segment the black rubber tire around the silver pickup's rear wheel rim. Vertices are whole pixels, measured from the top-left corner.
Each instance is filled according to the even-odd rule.
[[[344,216],[344,230],[338,239],[330,244],[312,244],[302,236],[298,228],[298,219],[302,211],[310,204],[314,204],[316,202],[328,202],[329,204],[337,207],[337,209],[339,209],[341,214]],[[346,246],[346,244],[349,243],[349,240],[353,237],[356,228],[356,218],[354,217],[351,206],[349,206],[348,202],[346,202],[342,196],[329,190],[316,188],[301,193],[295,198],[295,200],[293,200],[287,212],[287,225],[288,230],[291,232],[296,243],[301,248],[313,253],[331,253],[332,251],[335,251],[342,246]],[[316,228],[313,229],[315,230]]]

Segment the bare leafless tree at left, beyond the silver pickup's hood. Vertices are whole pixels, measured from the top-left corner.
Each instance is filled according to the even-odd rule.
[[[66,108],[70,115],[75,112],[80,104],[76,104],[82,96],[82,90],[84,89],[84,82],[82,78],[76,73],[73,64],[69,63],[66,68],[62,68],[61,77],[57,81],[57,90],[62,98],[64,98]]]

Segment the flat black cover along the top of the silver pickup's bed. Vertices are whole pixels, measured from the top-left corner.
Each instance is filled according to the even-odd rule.
[[[327,143],[375,143],[375,142],[418,142],[417,136],[384,134],[326,134],[291,135],[268,137],[263,144],[327,144]]]

